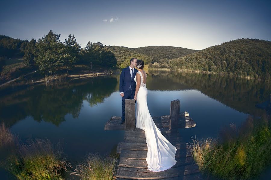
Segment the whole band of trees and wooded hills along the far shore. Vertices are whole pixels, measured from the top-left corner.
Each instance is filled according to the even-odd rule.
[[[37,67],[44,74],[57,69],[68,72],[75,64],[87,64],[92,69],[124,68],[136,57],[149,64],[149,68],[209,71],[271,80],[270,41],[242,38],[203,50],[172,46],[128,48],[104,46],[100,42],[88,42],[81,48],[74,35],[69,35],[64,42],[59,37],[60,34],[51,30],[37,42],[0,35],[0,72],[5,58],[14,55],[23,56],[28,67]]]

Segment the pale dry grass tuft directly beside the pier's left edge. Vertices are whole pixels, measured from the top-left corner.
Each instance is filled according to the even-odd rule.
[[[82,180],[114,180],[116,163],[116,155],[102,158],[98,153],[91,153],[83,163],[76,166],[72,174],[80,176]]]

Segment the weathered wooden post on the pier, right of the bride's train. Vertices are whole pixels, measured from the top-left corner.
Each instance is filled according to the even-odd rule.
[[[170,105],[170,123],[169,123],[169,130],[175,129],[178,130],[178,119],[180,113],[180,100],[176,99],[171,101]]]

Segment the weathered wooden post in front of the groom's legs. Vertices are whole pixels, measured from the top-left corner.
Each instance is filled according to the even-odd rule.
[[[134,99],[125,100],[125,130],[133,131],[136,128],[135,106],[136,100]]]

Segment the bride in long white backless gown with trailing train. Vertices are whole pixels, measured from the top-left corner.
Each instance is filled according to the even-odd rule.
[[[149,113],[147,104],[148,90],[146,88],[147,74],[143,70],[144,61],[137,60],[138,72],[135,76],[136,92],[134,99],[137,101],[136,128],[145,131],[148,146],[147,164],[148,170],[152,172],[164,171],[176,164],[176,147],[173,146],[156,127]]]

